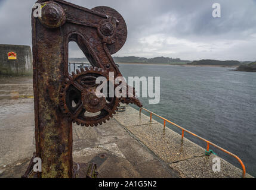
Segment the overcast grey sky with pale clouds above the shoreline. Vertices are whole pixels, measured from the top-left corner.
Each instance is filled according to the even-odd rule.
[[[67,0],[82,7],[105,5],[125,18],[128,39],[113,56],[256,60],[256,0]],[[212,17],[212,4],[221,18]],[[0,0],[0,43],[31,46],[35,0]],[[70,57],[82,57],[73,43]]]

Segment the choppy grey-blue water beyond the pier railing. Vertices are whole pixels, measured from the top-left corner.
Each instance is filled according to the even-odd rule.
[[[256,72],[125,64],[120,64],[119,69],[125,77],[161,77],[160,103],[149,105],[148,99],[140,98],[143,106],[236,154],[244,162],[246,172],[256,176]],[[197,138],[186,137],[206,147]],[[211,149],[241,168],[233,157]]]

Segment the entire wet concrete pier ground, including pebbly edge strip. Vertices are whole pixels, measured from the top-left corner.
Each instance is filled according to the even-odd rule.
[[[0,78],[0,87],[0,178],[20,178],[35,151],[32,80]],[[242,170],[223,159],[221,172],[213,172],[216,156],[149,120],[127,106],[104,125],[73,125],[73,161],[97,163],[98,178],[241,177]]]

